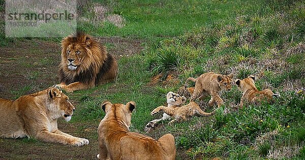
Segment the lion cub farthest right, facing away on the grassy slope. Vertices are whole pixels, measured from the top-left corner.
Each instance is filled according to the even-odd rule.
[[[255,76],[250,75],[248,78],[242,80],[236,79],[235,84],[238,86],[238,89],[242,92],[242,97],[240,99],[240,107],[243,106],[245,100],[252,103],[260,103],[263,100],[270,102],[273,96],[278,97],[279,94],[274,94],[270,89],[265,89],[258,91],[254,84]]]

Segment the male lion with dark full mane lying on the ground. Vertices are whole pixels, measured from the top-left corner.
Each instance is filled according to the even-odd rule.
[[[58,75],[59,86],[73,92],[113,81],[117,76],[117,63],[95,38],[77,32],[63,38]]]

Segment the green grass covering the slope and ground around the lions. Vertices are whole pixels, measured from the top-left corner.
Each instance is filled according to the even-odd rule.
[[[214,71],[234,73],[234,78],[239,79],[255,75],[258,89],[270,88],[279,92],[281,97],[273,104],[247,104],[247,107],[239,108],[241,93],[233,86],[230,92],[221,94],[225,106],[218,108],[214,116],[192,117],[172,126],[165,121],[145,134],[153,138],[173,134],[177,159],[304,157],[303,2],[91,1],[86,5],[81,7],[79,29],[95,36],[128,37],[145,42],[140,54],[118,59],[119,74],[115,82],[67,94],[77,110],[71,122],[59,128],[70,130],[72,135],[87,137],[89,146],[73,147],[73,156],[69,157],[67,147],[33,139],[5,139],[2,140],[5,143],[0,141],[1,144],[7,148],[14,148],[14,143],[23,148],[31,144],[33,148],[39,146],[40,150],[49,147],[58,150],[57,147],[60,147],[63,151],[55,155],[94,158],[97,153],[96,129],[105,115],[100,108],[101,102],[106,99],[124,104],[135,101],[137,107],[132,116],[131,131],[145,133],[145,125],[161,116],[151,116],[150,111],[165,103],[167,92],[176,92],[190,76]],[[123,17],[124,26],[118,27],[109,20],[98,19],[98,13],[90,10],[96,6],[108,7],[105,15]],[[2,46],[11,41],[22,42],[18,38],[0,35],[1,38],[4,40],[0,41]],[[108,49],[115,48],[111,43],[105,45]],[[45,54],[42,51],[32,52]],[[9,58],[30,69],[51,66],[49,70],[52,72],[56,72],[56,67],[52,67],[56,66],[54,61],[59,63],[55,57],[39,57],[36,63],[19,57]],[[33,84],[24,84],[13,90],[13,98],[37,90],[33,86],[37,85],[35,81],[42,72],[33,70],[25,74]],[[160,83],[151,85],[151,77],[160,74]],[[54,79],[51,81],[56,83]],[[206,106],[208,99],[203,100],[203,109],[214,110],[214,107]],[[59,122],[59,125],[63,124]],[[26,149],[25,152],[29,151]],[[80,152],[88,154],[80,155]],[[19,152],[12,154],[0,154],[0,157],[24,158],[23,154],[16,156],[21,154]],[[45,156],[31,154],[31,157]]]

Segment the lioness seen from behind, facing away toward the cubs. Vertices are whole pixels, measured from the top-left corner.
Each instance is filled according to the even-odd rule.
[[[130,132],[131,114],[135,102],[112,104],[102,103],[106,115],[99,128],[100,159],[175,159],[175,140],[166,134],[155,140],[146,135]]]

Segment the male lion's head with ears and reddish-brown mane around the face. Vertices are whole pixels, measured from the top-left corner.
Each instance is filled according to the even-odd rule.
[[[69,70],[76,70],[80,65],[90,65],[88,59],[92,58],[93,37],[77,32],[63,38],[62,41],[62,61],[66,61]],[[84,62],[84,61],[88,62]],[[84,67],[88,67],[84,66]]]

